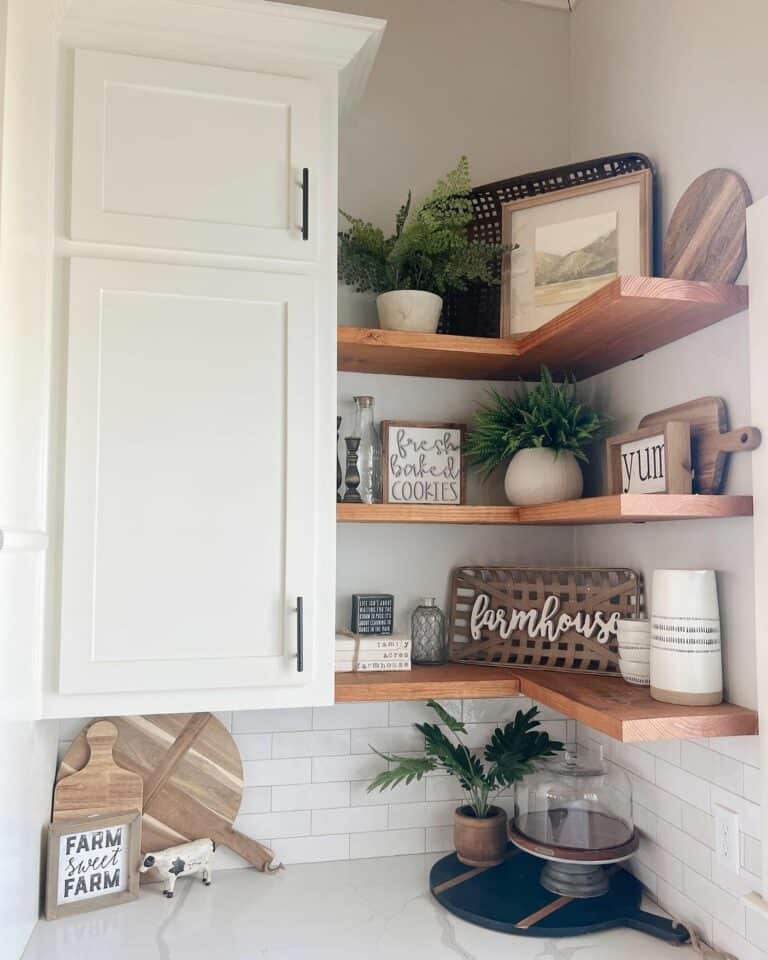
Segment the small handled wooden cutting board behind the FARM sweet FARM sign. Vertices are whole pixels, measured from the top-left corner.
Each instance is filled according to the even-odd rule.
[[[118,731],[114,723],[99,720],[81,734],[78,773],[56,784],[53,819],[81,820],[101,814],[141,812],[144,782],[113,758]]]

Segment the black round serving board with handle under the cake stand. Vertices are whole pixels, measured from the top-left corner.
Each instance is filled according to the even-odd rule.
[[[450,913],[469,923],[524,937],[573,937],[630,927],[669,943],[687,943],[688,934],[672,921],[640,909],[642,884],[614,869],[602,897],[558,897],[539,883],[543,861],[510,846],[497,867],[473,869],[455,853],[432,867],[429,888]],[[464,877],[464,879],[461,879]]]

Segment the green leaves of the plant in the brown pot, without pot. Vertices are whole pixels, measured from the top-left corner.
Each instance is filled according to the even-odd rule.
[[[453,739],[434,723],[416,723],[416,729],[424,735],[423,757],[401,757],[371,749],[390,764],[368,785],[368,792],[386,790],[399,783],[421,780],[425,773],[443,770],[456,777],[466,795],[467,806],[476,817],[487,817],[493,801],[513,783],[533,772],[536,760],[552,757],[563,749],[559,740],[550,740],[549,734],[536,730],[538,710],[532,707],[526,713],[518,710],[515,719],[504,727],[497,727],[483,751],[483,759],[470,750],[461,735],[467,729],[461,721],[451,716],[435,700],[431,707]],[[485,762],[483,762],[483,760]]]

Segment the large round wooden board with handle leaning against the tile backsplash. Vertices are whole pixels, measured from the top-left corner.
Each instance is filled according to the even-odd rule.
[[[144,784],[142,850],[210,837],[260,870],[272,864],[271,850],[232,829],[243,795],[243,765],[221,721],[210,713],[109,719],[118,731],[115,761]],[[57,793],[85,766],[87,733],[62,760]]]

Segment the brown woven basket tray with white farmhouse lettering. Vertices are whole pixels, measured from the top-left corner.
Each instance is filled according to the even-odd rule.
[[[451,659],[616,673],[617,623],[642,613],[638,574],[584,567],[459,567]]]

